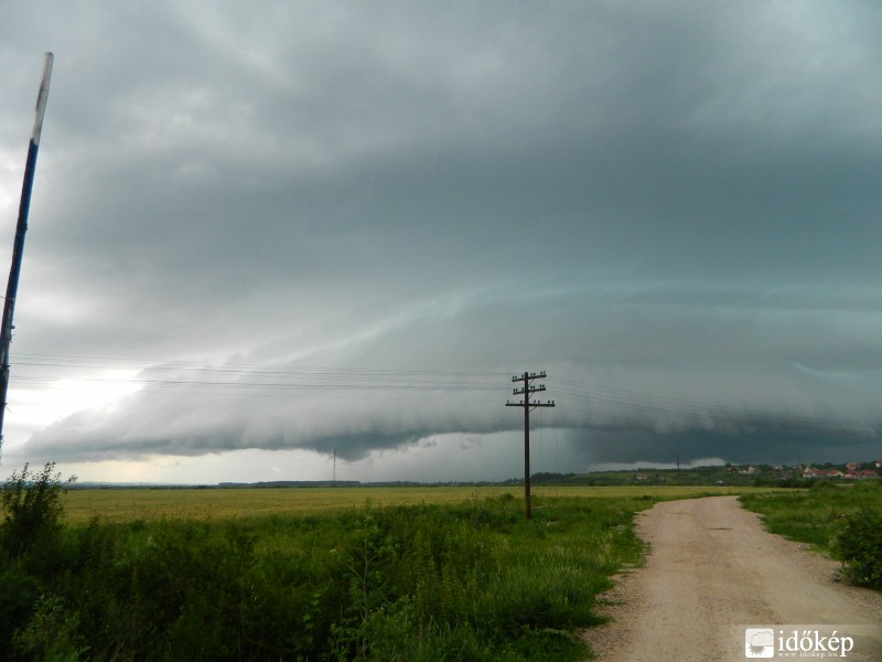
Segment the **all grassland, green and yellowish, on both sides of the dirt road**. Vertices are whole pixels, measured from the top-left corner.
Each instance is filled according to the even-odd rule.
[[[0,527],[4,659],[574,662],[641,563],[636,512],[738,494],[829,553],[882,483],[539,485],[529,521],[516,485],[54,493],[64,525]],[[882,520],[856,531],[849,577],[874,586]]]

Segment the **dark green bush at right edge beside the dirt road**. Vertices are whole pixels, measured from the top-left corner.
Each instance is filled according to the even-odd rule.
[[[882,590],[882,511],[863,509],[848,515],[836,552],[847,581]]]

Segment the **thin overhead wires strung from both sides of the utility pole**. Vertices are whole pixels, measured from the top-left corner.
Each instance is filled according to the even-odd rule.
[[[486,402],[510,394],[510,373],[488,371],[439,371],[376,367],[310,366],[225,362],[158,361],[66,354],[21,354],[15,369],[17,383],[52,387],[65,380],[87,383],[129,384],[150,392],[175,395],[223,394],[232,396],[286,396],[341,399],[418,401],[427,392],[449,393],[432,402]],[[46,373],[45,371],[51,371]],[[94,376],[95,373],[133,372],[130,376]],[[60,372],[62,374],[60,374]],[[92,374],[83,374],[83,373]],[[165,377],[164,375],[168,375]],[[607,386],[598,383],[548,376],[556,403],[567,412],[621,423],[631,416],[636,423],[647,416],[676,416],[684,420],[712,420],[718,424],[781,427],[792,429],[854,429],[868,423],[853,419],[776,413],[768,409],[722,405]],[[472,394],[455,397],[453,393]],[[628,414],[630,413],[630,414]],[[590,423],[590,421],[589,421]]]

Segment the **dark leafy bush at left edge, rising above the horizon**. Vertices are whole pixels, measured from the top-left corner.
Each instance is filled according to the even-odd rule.
[[[12,556],[21,556],[39,540],[57,533],[64,515],[62,485],[75,481],[72,476],[63,483],[55,462],[46,462],[40,472],[30,471],[28,465],[21,472],[12,472],[0,495],[4,516],[0,542]]]

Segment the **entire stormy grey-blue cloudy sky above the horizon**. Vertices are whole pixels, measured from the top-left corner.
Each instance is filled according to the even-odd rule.
[[[876,3],[0,8],[6,473],[882,458]]]

